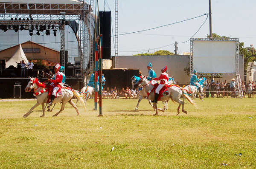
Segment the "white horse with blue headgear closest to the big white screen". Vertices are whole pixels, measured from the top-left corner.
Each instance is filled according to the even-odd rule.
[[[204,86],[206,86],[206,82],[207,82],[207,79],[205,77],[202,77],[199,79],[198,83],[201,85],[201,91],[204,90]],[[200,90],[198,89],[197,86],[194,86],[194,85],[187,85],[186,87],[184,87],[184,94],[188,95],[188,96],[191,96],[192,100],[194,99],[194,94],[198,94],[200,99],[202,101],[204,101],[204,92],[199,92]]]

